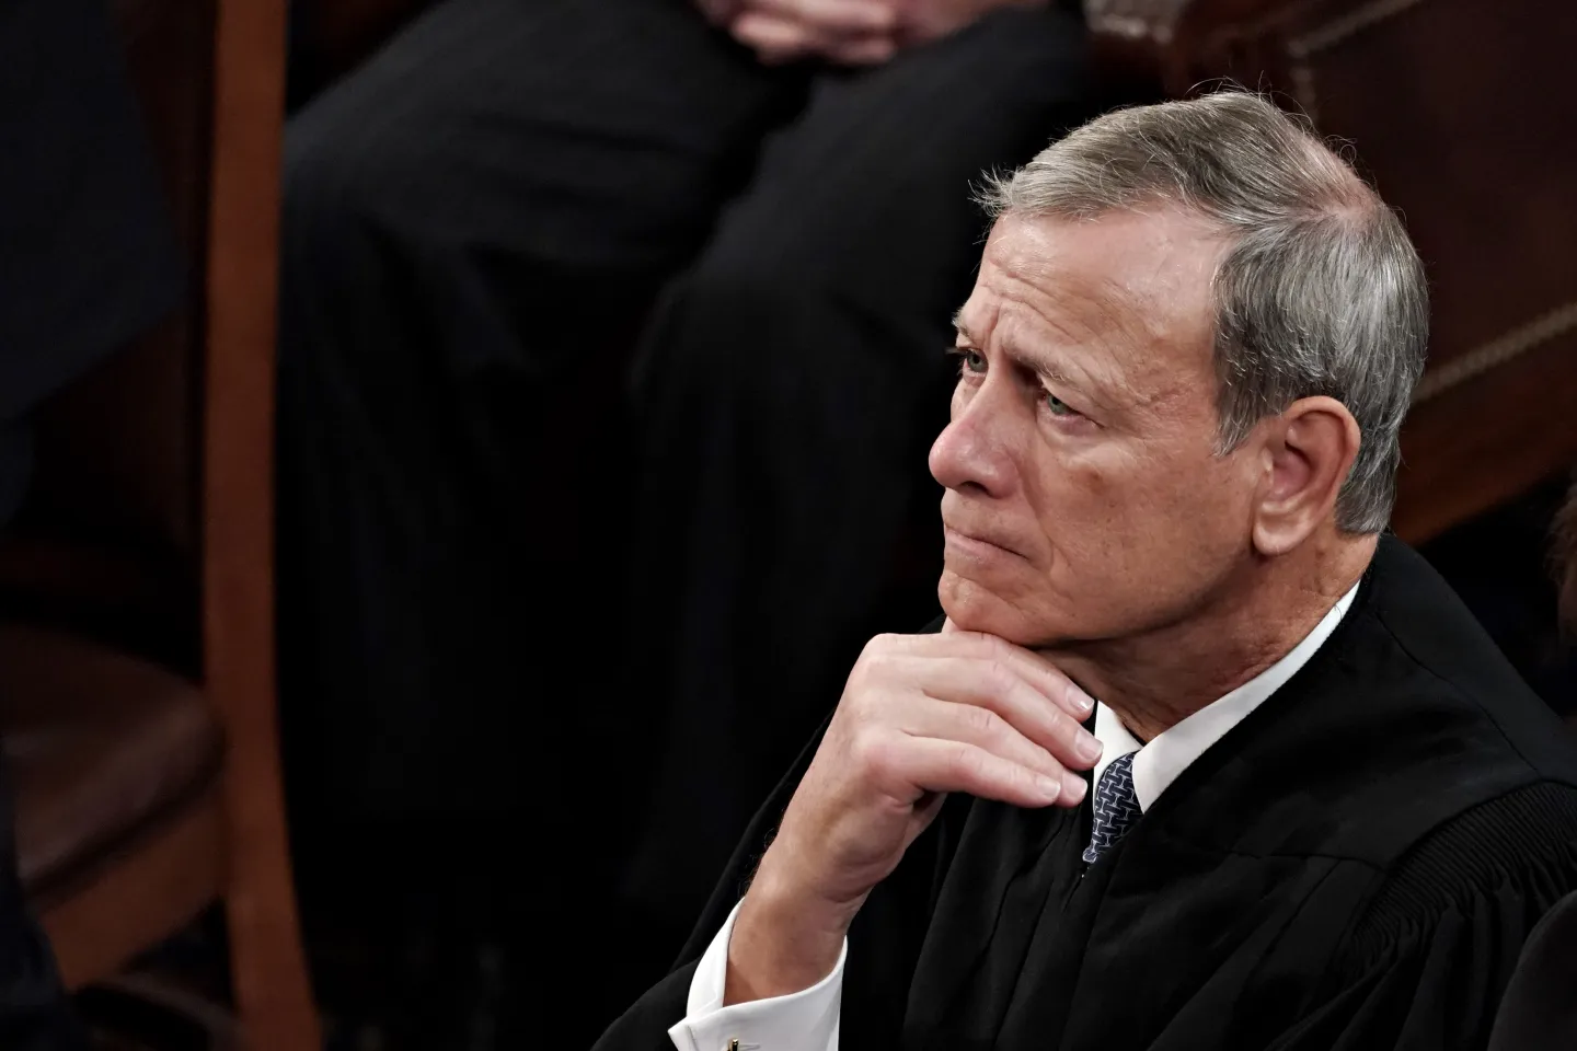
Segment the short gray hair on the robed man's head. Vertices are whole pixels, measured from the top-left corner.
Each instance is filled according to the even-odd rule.
[[[1402,221],[1306,121],[1247,91],[1117,110],[992,176],[981,203],[992,219],[1161,203],[1219,227],[1219,451],[1301,397],[1334,397],[1361,433],[1336,523],[1386,528],[1429,339],[1424,266]]]

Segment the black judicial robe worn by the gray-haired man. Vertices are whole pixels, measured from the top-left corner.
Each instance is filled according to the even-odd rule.
[[[672,1048],[812,752],[599,1049]],[[1088,835],[1088,804],[949,797],[850,930],[841,1046],[1482,1048],[1530,930],[1577,889],[1577,753],[1386,537],[1314,659],[1085,867]]]

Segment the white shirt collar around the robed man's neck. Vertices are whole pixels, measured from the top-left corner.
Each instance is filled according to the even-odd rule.
[[[1112,759],[1137,752],[1134,756],[1134,796],[1139,799],[1140,811],[1150,810],[1161,793],[1178,778],[1187,764],[1205,755],[1210,745],[1221,741],[1228,730],[1243,722],[1249,712],[1265,703],[1265,700],[1285,685],[1287,679],[1298,674],[1298,670],[1309,663],[1315,651],[1325,644],[1336,626],[1347,616],[1358,594],[1353,585],[1347,594],[1336,600],[1314,630],[1292,652],[1258,673],[1232,693],[1211,701],[1183,722],[1156,734],[1150,744],[1142,745],[1139,739],[1128,733],[1128,728],[1105,704],[1094,706],[1094,736],[1102,745],[1101,761],[1094,764],[1094,785],[1101,783],[1101,775]]]

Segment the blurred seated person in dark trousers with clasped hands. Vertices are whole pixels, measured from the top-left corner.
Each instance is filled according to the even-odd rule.
[[[672,958],[863,640],[929,607],[970,181],[1096,109],[1074,8],[446,0],[298,113],[308,911],[314,873],[374,927],[535,904],[607,1005]]]

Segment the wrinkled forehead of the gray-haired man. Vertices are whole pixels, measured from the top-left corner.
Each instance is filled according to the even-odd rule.
[[[1224,238],[1172,210],[1003,216],[957,314],[981,347],[1057,358],[1142,399],[1213,380],[1211,277]]]

